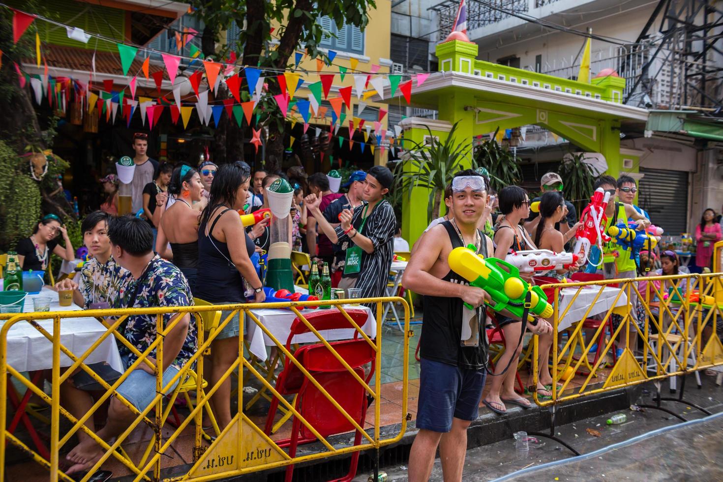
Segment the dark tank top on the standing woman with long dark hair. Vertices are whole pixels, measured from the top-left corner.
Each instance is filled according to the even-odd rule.
[[[231,254],[228,252],[228,244],[218,241],[213,236],[213,228],[226,211],[223,210],[213,223],[211,223],[206,236],[206,224],[198,227],[198,264],[202,270],[198,270],[196,289],[194,296],[209,301],[210,303],[221,303],[226,301],[246,301],[244,297],[244,283],[241,281],[241,274],[231,262]],[[249,257],[254,254],[254,242],[244,233],[246,249]]]

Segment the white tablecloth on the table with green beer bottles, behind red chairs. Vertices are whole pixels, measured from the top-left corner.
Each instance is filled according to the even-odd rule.
[[[372,310],[366,306],[343,305],[343,308],[363,309],[364,311],[367,311],[367,322],[361,326],[361,330],[363,330],[370,338],[374,338],[377,335],[377,322],[374,314],[372,314]],[[304,309],[304,311],[301,311],[301,314],[307,315],[314,313],[315,311],[321,310]],[[296,318],[294,311],[288,309],[253,309],[251,312],[259,319],[264,327],[266,327],[266,329],[269,330],[274,337],[276,337],[276,340],[278,340],[281,344],[286,343],[288,333],[291,331],[291,322],[294,322],[294,318]],[[263,330],[261,330],[261,327],[253,322],[252,319],[247,319],[245,324],[248,330],[246,340],[249,342],[251,353],[257,356],[260,360],[265,360],[266,347],[275,346],[275,344],[263,332]],[[354,331],[355,330],[353,329],[322,330],[319,333],[325,340],[348,340],[354,337]],[[319,338],[317,338],[314,333],[303,333],[301,335],[296,335],[294,339],[291,340],[291,343],[316,343],[318,341]]]

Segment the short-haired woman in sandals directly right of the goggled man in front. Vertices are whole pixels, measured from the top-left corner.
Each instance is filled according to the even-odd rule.
[[[495,229],[495,258],[505,259],[512,251],[537,249],[529,234],[520,225],[521,220],[529,218],[530,215],[530,198],[527,192],[519,186],[507,186],[502,189],[500,191],[500,211],[502,212],[502,220]],[[517,360],[522,352],[522,345],[518,345],[521,330],[523,329],[522,322],[504,317],[501,314],[497,314],[496,318],[497,324],[502,327],[502,332],[505,334],[505,353],[497,360],[495,374],[508,366],[510,358],[513,361],[510,364],[510,369],[504,375],[492,376],[492,386],[484,399],[485,405],[488,405],[497,413],[505,413],[505,403],[529,408],[530,401],[515,393]],[[525,329],[527,329],[527,323],[525,325]],[[547,338],[543,342],[543,337],[552,340],[551,335],[540,335],[541,344],[547,342]],[[531,390],[535,390],[535,387],[531,387]],[[527,391],[525,390],[525,392]],[[537,392],[538,397],[542,400],[546,396],[551,396],[544,385],[539,383]]]

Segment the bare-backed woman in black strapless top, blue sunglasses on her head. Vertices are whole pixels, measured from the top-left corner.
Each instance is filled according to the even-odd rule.
[[[176,197],[176,202],[163,213],[155,241],[158,253],[166,251],[166,244],[171,243],[173,262],[186,276],[192,292],[198,269],[200,212],[194,210],[191,203],[200,201],[202,189],[201,177],[194,168],[189,165],[176,168],[168,186],[168,192]]]

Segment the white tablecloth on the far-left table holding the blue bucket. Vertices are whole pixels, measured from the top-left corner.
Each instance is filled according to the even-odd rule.
[[[27,295],[25,298],[26,313],[33,311],[33,298],[47,296],[51,298],[51,311],[76,311],[80,306],[60,306],[58,293],[43,288],[38,295]],[[4,324],[0,321],[0,325]],[[53,320],[44,319],[37,322],[50,335],[53,335]],[[106,332],[106,327],[95,318],[64,318],[60,320],[60,340],[74,355],[80,356],[90,348],[96,340]],[[125,371],[121,356],[118,352],[118,345],[113,335],[103,340],[89,356],[85,364],[107,362],[114,370]],[[7,334],[7,363],[17,371],[45,370],[53,368],[53,343],[43,336],[28,322],[17,322]],[[60,366],[70,366],[72,361],[62,352],[60,354]]]

